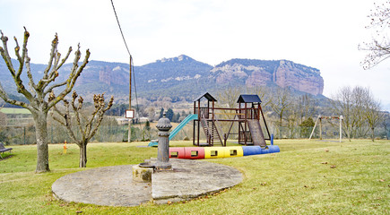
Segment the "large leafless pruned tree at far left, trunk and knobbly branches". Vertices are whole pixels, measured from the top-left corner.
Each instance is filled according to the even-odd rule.
[[[11,56],[8,52],[7,41],[8,38],[4,36],[3,31],[1,31],[1,40],[3,42],[3,47],[0,47],[1,55],[3,56],[4,62],[13,76],[13,82],[16,85],[16,90],[25,97],[29,103],[22,102],[15,99],[10,99],[7,92],[4,90],[0,82],[0,97],[4,99],[5,102],[24,107],[30,110],[31,115],[35,122],[35,131],[37,138],[37,168],[36,172],[46,172],[50,168],[48,166],[48,111],[51,107],[55,106],[56,103],[65,98],[65,96],[74,88],[74,83],[77,78],[82,73],[83,68],[88,64],[88,59],[90,57],[90,51],[87,49],[86,55],[82,64],[79,66],[79,60],[81,58],[80,45],[77,48],[77,51],[74,53],[74,64],[69,73],[68,78],[64,82],[55,83],[56,77],[58,76],[58,70],[61,68],[65,61],[72,52],[72,47],[69,47],[68,52],[64,58],[61,60],[61,54],[57,50],[58,37],[57,35],[51,42],[51,51],[48,60],[48,66],[43,72],[43,77],[39,82],[34,82],[32,78],[31,68],[30,68],[30,57],[27,50],[27,42],[30,37],[29,31],[24,28],[24,39],[22,47],[19,46],[18,40],[14,37],[16,47],[14,48],[15,56],[19,63],[19,66],[14,66]],[[22,49],[22,55],[21,55]],[[29,79],[28,87],[24,85],[21,79],[21,74],[23,69],[26,69],[27,77]],[[53,90],[61,88],[60,93],[55,98],[50,100],[48,99],[48,93],[51,93]]]

